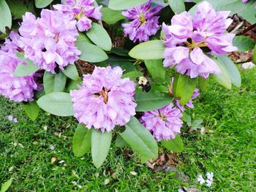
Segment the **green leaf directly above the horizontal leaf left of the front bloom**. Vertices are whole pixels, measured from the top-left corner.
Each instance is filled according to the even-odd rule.
[[[59,71],[57,74],[52,74],[51,72],[45,71],[43,83],[46,94],[64,91],[66,82],[67,77],[63,72]]]

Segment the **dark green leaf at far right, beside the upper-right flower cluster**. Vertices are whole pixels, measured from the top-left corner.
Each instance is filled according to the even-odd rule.
[[[238,47],[239,51],[245,52],[246,50],[252,50],[253,47],[255,47],[255,41],[249,37],[235,36],[233,45]]]

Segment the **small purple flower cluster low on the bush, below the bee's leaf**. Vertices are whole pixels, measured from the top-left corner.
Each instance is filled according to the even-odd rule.
[[[176,134],[181,133],[182,112],[170,103],[159,110],[143,112],[140,122],[148,131],[151,131],[153,137],[159,142],[162,139],[174,139]]]

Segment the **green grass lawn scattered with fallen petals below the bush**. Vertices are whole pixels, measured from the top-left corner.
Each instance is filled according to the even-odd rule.
[[[256,191],[255,76],[256,70],[243,72],[241,88],[232,91],[210,81],[195,109],[187,111],[192,119],[203,119],[206,130],[214,131],[188,134],[183,128],[185,149],[178,155],[178,172],[187,176],[187,183],[174,173],[151,172],[138,157],[128,157],[114,146],[105,164],[96,169],[90,153],[83,158],[72,154],[73,118],[41,111],[33,122],[19,104],[0,98],[0,183],[14,177],[10,191],[178,191],[184,185],[195,185],[199,191]],[[10,114],[19,123],[10,123]],[[55,149],[50,150],[50,145]],[[55,164],[50,163],[53,156],[58,158]],[[197,175],[211,171],[214,185],[200,186]]]

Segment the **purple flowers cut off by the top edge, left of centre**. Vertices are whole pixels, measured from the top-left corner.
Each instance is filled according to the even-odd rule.
[[[64,0],[62,4],[53,5],[54,9],[69,15],[71,20],[77,20],[79,31],[89,31],[92,20],[101,20],[102,5],[94,7],[95,0]]]

